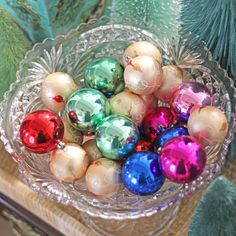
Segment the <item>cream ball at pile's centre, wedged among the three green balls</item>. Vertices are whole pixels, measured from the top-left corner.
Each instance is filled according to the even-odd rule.
[[[147,112],[144,100],[137,94],[124,91],[110,99],[112,114],[119,114],[130,118],[136,125],[141,124]]]

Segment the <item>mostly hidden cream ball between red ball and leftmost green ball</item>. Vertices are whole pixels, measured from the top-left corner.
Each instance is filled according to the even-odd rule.
[[[63,141],[65,143],[83,143],[83,134],[81,131],[75,129],[66,119],[66,117],[62,118],[64,124],[64,136]]]

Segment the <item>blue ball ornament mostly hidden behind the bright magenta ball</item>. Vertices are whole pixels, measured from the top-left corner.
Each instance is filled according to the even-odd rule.
[[[171,140],[172,138],[175,138],[181,135],[189,135],[188,129],[184,126],[174,126],[167,129],[166,131],[161,133],[160,136],[157,138],[157,141],[155,143],[156,150],[158,150],[159,148],[162,148],[165,145],[165,143]]]

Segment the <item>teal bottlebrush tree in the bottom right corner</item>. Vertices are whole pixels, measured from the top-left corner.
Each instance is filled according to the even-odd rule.
[[[236,187],[218,177],[197,205],[189,236],[236,235]]]

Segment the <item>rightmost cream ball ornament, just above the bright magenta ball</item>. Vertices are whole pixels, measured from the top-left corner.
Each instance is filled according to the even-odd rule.
[[[189,134],[205,146],[224,141],[228,132],[228,121],[225,114],[214,106],[195,109],[187,124]]]

